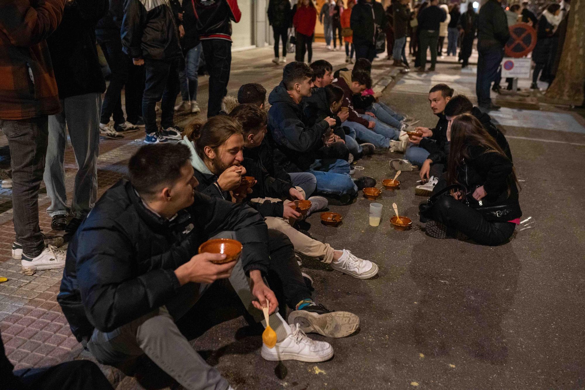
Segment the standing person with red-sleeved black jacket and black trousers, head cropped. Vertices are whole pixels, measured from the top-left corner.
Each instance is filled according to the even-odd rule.
[[[190,0],[185,0],[189,2]],[[221,101],[228,94],[232,67],[232,20],[238,23],[242,12],[238,0],[192,0],[197,12],[197,29],[209,73],[207,117],[221,111]]]

